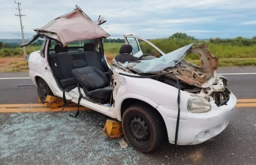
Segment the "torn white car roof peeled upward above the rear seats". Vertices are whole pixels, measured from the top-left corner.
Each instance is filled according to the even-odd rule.
[[[62,45],[73,41],[107,38],[109,34],[99,26],[104,22],[106,22],[104,18],[94,22],[76,6],[72,12],[61,15],[43,27],[35,29],[37,34],[22,47],[31,44],[39,37],[53,39]]]

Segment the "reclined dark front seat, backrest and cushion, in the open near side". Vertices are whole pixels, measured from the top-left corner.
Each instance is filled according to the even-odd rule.
[[[107,76],[94,66],[72,70],[72,74],[82,86],[86,96],[101,103],[110,101],[113,86],[109,86]]]

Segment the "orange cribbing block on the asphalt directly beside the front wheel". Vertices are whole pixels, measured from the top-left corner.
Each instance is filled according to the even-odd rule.
[[[103,129],[103,134],[109,139],[119,139],[123,135],[122,124],[116,120],[107,120]]]

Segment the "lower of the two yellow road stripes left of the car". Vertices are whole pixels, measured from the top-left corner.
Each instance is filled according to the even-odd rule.
[[[9,109],[0,109],[0,113],[13,113],[13,112],[59,112],[63,107],[59,108],[9,108]],[[76,111],[77,107],[66,107],[63,111]],[[79,107],[79,110],[86,111],[89,108]]]

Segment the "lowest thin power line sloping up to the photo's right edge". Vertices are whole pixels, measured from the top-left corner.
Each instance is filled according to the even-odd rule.
[[[227,20],[227,19],[237,19],[237,18],[246,18],[254,17],[256,15],[249,15],[243,17],[232,17],[232,18],[220,18],[220,19],[209,19],[209,20],[199,20],[199,21],[188,21],[188,22],[177,22],[177,23],[161,23],[161,24],[146,24],[146,25],[127,25],[127,26],[111,26],[111,27],[139,27],[139,26],[158,26],[158,25],[169,25],[169,24],[179,24],[179,23],[193,23],[193,22],[205,22],[205,21],[215,21],[215,20]],[[105,27],[105,28],[111,28]]]

